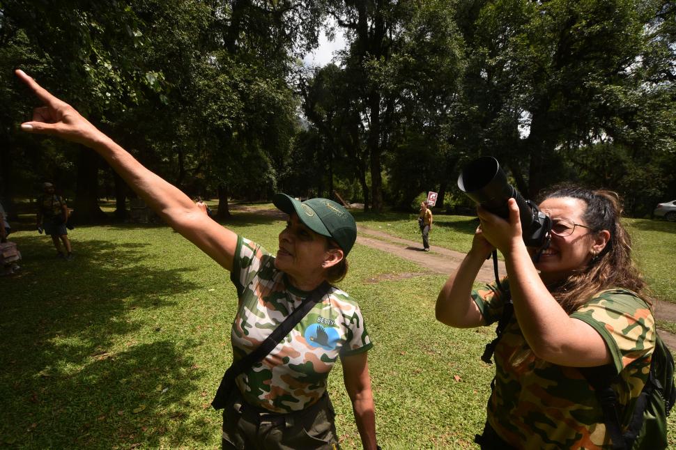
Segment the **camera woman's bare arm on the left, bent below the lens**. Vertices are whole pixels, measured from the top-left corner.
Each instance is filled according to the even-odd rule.
[[[459,328],[485,325],[481,311],[470,294],[474,280],[492,250],[493,247],[482,236],[481,228],[477,228],[472,249],[441,288],[436,300],[436,320]]]

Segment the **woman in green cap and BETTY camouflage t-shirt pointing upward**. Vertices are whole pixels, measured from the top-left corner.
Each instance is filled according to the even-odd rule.
[[[358,304],[328,285],[345,276],[357,228],[341,205],[327,199],[300,202],[276,194],[289,214],[279,250],[265,249],[209,219],[183,192],[148,171],[70,105],[21,70],[16,75],[45,106],[26,132],[51,134],[93,148],[165,222],[231,272],[238,311],[231,329],[233,359],[242,360],[311,293],[318,302],[262,362],[236,378],[225,398],[225,449],[337,448],[328,373],[340,357],[364,449],[376,449],[367,350],[372,347]],[[327,283],[328,282],[328,283]],[[325,290],[321,290],[324,288]]]

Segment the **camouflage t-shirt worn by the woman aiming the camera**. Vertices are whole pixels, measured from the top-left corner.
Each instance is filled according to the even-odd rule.
[[[472,297],[486,323],[500,318],[502,295],[496,286],[474,290]],[[594,295],[570,316],[593,327],[606,342],[620,373],[613,389],[623,411],[623,427],[627,426],[655,346],[650,308],[629,290],[611,289]],[[523,449],[610,449],[594,389],[578,368],[535,357],[516,315],[505,328],[495,360],[488,421],[502,439]]]

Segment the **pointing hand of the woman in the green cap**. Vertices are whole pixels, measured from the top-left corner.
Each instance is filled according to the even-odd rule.
[[[34,79],[26,75],[23,70],[17,69],[15,74],[45,104],[45,106],[33,110],[33,120],[22,123],[22,130],[38,134],[51,134],[86,146],[93,146],[96,139],[102,136],[102,133],[94,125],[91,125],[86,118],[82,117],[79,112],[75,111],[75,108],[54,97]]]

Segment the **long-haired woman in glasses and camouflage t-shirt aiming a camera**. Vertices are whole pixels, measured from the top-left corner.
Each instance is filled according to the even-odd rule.
[[[514,304],[495,350],[496,377],[482,449],[606,448],[601,405],[578,368],[612,364],[613,385],[629,422],[655,346],[647,286],[631,261],[631,242],[612,192],[561,187],[539,208],[552,219],[551,244],[525,247],[518,206],[509,221],[478,208],[473,245],[439,293],[436,317],[453,327],[495,323],[508,297]],[[507,278],[473,290],[493,249]]]

